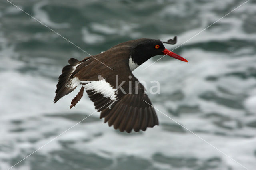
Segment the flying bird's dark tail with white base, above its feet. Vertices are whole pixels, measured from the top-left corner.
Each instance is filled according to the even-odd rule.
[[[54,98],[54,103],[56,103],[63,96],[72,92],[78,85],[80,85],[79,79],[71,76],[76,67],[79,65],[80,61],[71,58],[68,60],[68,63],[70,65],[63,67],[62,74],[59,77],[57,89],[55,91],[56,95]]]

